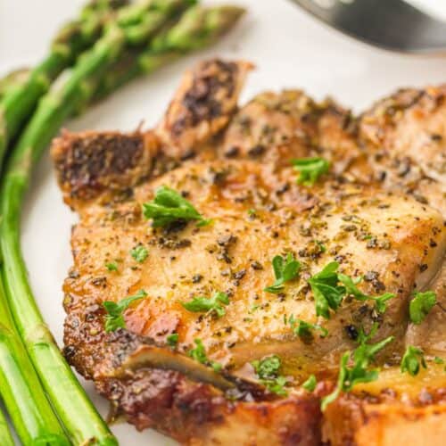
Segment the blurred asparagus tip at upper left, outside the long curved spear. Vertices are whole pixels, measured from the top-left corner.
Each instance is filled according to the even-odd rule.
[[[0,165],[9,141],[17,135],[39,98],[45,95],[62,70],[75,62],[78,54],[93,45],[111,10],[126,3],[124,0],[95,0],[87,4],[78,21],[65,25],[54,38],[50,53],[31,70],[28,80],[4,93],[0,103]]]

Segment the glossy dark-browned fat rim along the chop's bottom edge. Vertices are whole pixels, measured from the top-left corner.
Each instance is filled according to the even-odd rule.
[[[268,430],[277,444],[320,442],[322,416],[318,399],[311,395],[272,402],[228,401],[210,385],[190,382],[178,372],[153,369],[95,384],[111,401],[115,417],[125,414],[138,430],[152,427],[179,442],[206,438],[213,428],[231,425],[234,419],[243,423],[237,427],[244,431]]]

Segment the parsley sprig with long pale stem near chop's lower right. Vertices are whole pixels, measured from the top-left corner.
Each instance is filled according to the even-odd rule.
[[[360,339],[359,347],[353,351],[346,351],[341,357],[338,381],[333,392],[326,395],[321,401],[321,409],[324,411],[328,404],[337,399],[340,392],[350,392],[354,385],[359,383],[370,383],[378,377],[378,370],[369,370],[368,366],[375,358],[378,351],[384,349],[388,343],[392,343],[393,336],[385,338],[379,343],[367,343],[371,334]],[[351,367],[347,365],[349,359],[353,359]]]

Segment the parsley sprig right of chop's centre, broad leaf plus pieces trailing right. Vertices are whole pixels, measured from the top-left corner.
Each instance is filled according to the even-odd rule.
[[[375,301],[376,310],[379,313],[387,310],[386,302],[395,297],[394,293],[384,293],[379,296],[364,294],[356,286],[361,281],[361,277],[354,279],[346,276],[339,273],[338,268],[339,263],[332,261],[308,280],[314,295],[317,316],[330,318],[330,310],[337,310],[347,295],[351,295],[358,301]]]

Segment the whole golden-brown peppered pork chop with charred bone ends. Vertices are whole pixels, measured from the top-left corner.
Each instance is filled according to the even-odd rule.
[[[95,381],[116,416],[185,444],[316,445],[323,432],[333,445],[372,444],[370,437],[386,445],[396,444],[395,426],[417,439],[430,429],[434,443],[444,435],[442,367],[431,360],[427,372],[412,378],[401,375],[399,362],[408,342],[427,354],[445,353],[442,306],[427,325],[408,320],[414,289],[429,287],[440,302],[446,299],[442,181],[417,167],[422,161],[412,151],[425,128],[446,137],[442,101],[434,106],[432,92],[410,90],[392,98],[400,106],[390,118],[377,106],[355,119],[335,103],[285,91],[257,96],[231,120],[249,68],[246,62],[200,64],[154,132],[65,135],[54,144],[66,201],[81,216],[64,285],[65,355]],[[399,132],[411,125],[417,130],[401,153],[409,153],[413,181],[401,180],[395,169],[402,162]],[[442,145],[431,151],[442,153]],[[332,162],[311,188],[296,185],[289,165],[306,156]],[[378,178],[380,169],[389,171],[387,178]],[[401,194],[401,185],[412,196]],[[150,228],[141,204],[158,186],[183,194],[213,224]],[[432,192],[436,210],[421,191]],[[141,244],[149,255],[137,263],[129,252]],[[265,293],[274,280],[271,259],[287,252],[301,261],[301,280],[284,293]],[[367,277],[360,285],[365,293],[396,294],[385,317],[358,301],[344,301],[328,321],[316,317],[305,281],[334,259],[350,276]],[[105,268],[111,261],[118,271]],[[105,333],[103,301],[139,289],[148,295],[126,311],[127,330]],[[215,291],[229,296],[222,318],[181,305]],[[284,322],[291,315],[326,326],[329,335],[302,340]],[[334,387],[340,354],[355,347],[360,326],[368,331],[376,321],[376,340],[395,336],[377,359],[385,365],[379,380],[356,386],[323,416],[319,398]],[[175,350],[166,344],[173,333]],[[208,358],[223,365],[220,374],[187,358],[197,337]],[[271,353],[282,358],[287,397],[253,381],[250,362]],[[318,377],[314,393],[301,390],[310,373]]]

